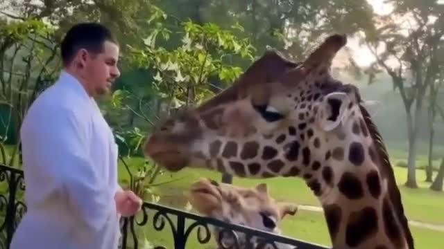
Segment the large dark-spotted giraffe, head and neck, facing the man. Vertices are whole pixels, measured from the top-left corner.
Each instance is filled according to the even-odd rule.
[[[145,155],[170,171],[302,177],[323,207],[334,248],[413,249],[377,127],[358,89],[330,75],[346,42],[327,37],[301,64],[268,51],[231,87],[162,123]]]

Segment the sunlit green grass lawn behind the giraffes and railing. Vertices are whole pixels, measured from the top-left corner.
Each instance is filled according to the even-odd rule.
[[[130,165],[137,165],[142,162],[142,158],[132,158],[129,163]],[[121,181],[126,182],[128,178],[126,169],[120,167],[119,170]],[[408,218],[415,221],[444,224],[444,215],[442,215],[444,213],[444,193],[433,192],[428,189],[428,184],[423,182],[423,179],[425,179],[424,170],[421,169],[416,172],[418,185],[420,185],[420,188],[417,190],[411,190],[403,186],[407,177],[407,169],[394,167],[394,170],[398,185],[400,185],[402,201]],[[207,169],[183,169],[176,173],[165,172],[156,179],[155,184],[168,181],[173,182],[158,185],[154,187],[154,191],[162,196],[160,203],[183,209],[187,204],[186,195],[189,183],[200,176],[210,177],[216,180],[220,180],[221,178],[220,173]],[[305,205],[318,205],[317,199],[314,198],[309,188],[299,178],[278,177],[268,178],[266,180],[248,178],[233,179],[235,185],[241,186],[255,186],[260,182],[266,182],[268,184],[271,195],[275,199],[294,201]],[[287,190],[289,186],[291,186],[291,190]],[[148,199],[147,201],[150,200]],[[172,246],[173,241],[169,233],[169,228],[165,229],[167,232],[157,232],[150,226],[146,228],[144,232],[146,232],[150,238],[156,238],[155,241],[153,241],[156,245],[162,244],[168,248],[168,246]],[[300,210],[297,216],[283,221],[282,229],[288,237],[330,246],[327,226],[322,213]],[[444,232],[436,232],[434,230],[413,226],[411,226],[411,230],[416,241],[416,248],[418,249],[434,248],[438,241],[442,241],[442,237],[444,236]],[[208,245],[199,246],[194,238],[196,238],[196,234],[191,235],[191,240],[187,248],[207,248]]]

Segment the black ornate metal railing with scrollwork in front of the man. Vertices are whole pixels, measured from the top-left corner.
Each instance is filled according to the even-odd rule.
[[[0,165],[0,248],[9,248],[12,234],[26,212],[24,190],[23,172]],[[121,219],[121,232],[121,249],[325,249],[313,243],[146,202],[139,214]],[[144,236],[146,233],[148,236]]]

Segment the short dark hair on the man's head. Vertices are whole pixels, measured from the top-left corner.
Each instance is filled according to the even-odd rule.
[[[117,39],[102,24],[85,22],[72,26],[60,46],[63,64],[69,64],[80,48],[93,54],[103,52],[106,41],[117,44]]]

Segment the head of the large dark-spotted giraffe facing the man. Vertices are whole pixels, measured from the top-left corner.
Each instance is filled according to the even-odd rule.
[[[361,102],[354,86],[329,74],[345,41],[328,37],[300,64],[268,51],[230,88],[162,122],[144,154],[170,171],[210,167],[255,178],[311,178],[327,142]]]

